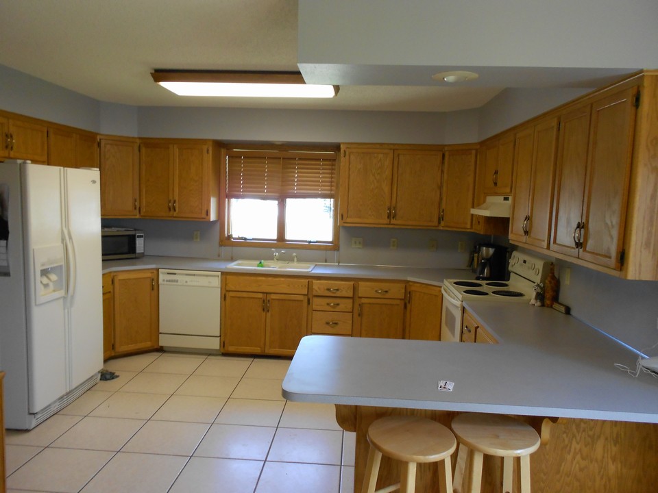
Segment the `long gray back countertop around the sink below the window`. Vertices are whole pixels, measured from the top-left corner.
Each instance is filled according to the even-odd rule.
[[[441,269],[420,267],[364,266],[354,264],[316,264],[310,272],[293,270],[265,270],[262,268],[232,268],[232,260],[200,259],[191,257],[145,257],[126,260],[106,260],[103,273],[118,270],[143,268],[175,268],[187,270],[210,270],[226,273],[297,275],[304,277],[354,277],[355,279],[400,279],[417,281],[440,286],[443,279],[473,279],[474,274],[467,269]]]

